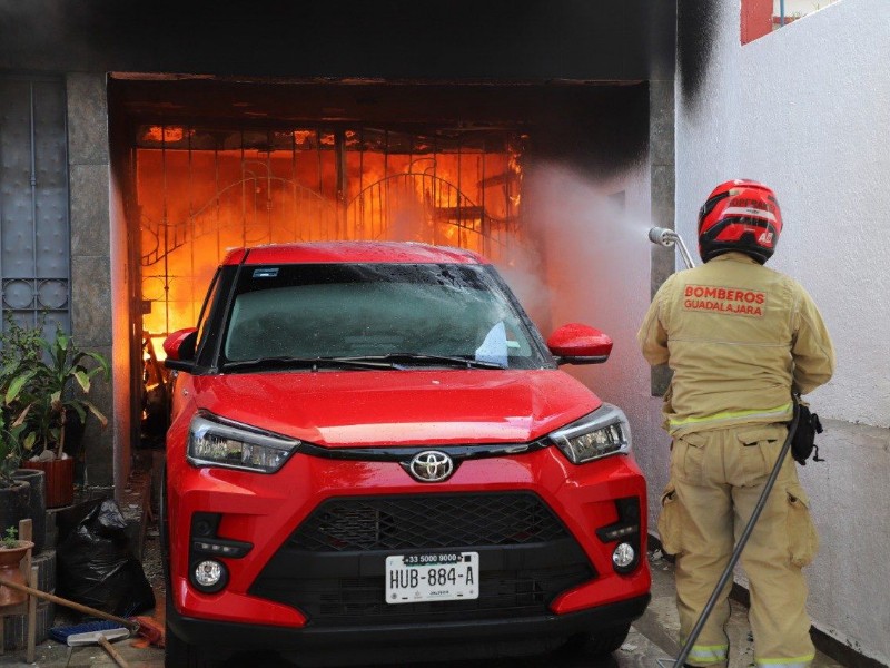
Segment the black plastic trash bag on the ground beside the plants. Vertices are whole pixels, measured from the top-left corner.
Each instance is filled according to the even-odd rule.
[[[111,499],[83,504],[56,549],[57,591],[62,598],[118,617],[155,607],[142,564],[132,554],[127,521]],[[63,531],[67,529],[67,531]]]

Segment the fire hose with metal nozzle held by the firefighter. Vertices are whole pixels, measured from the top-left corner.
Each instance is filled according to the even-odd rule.
[[[690,255],[689,250],[686,249],[686,245],[683,243],[683,239],[676,234],[673,229],[668,229],[665,227],[653,227],[649,230],[649,240],[653,244],[657,244],[661,246],[671,247],[676,245],[680,248],[680,254],[683,258],[683,262],[686,265],[686,268],[694,267],[694,263],[692,262],[692,256]],[[789,450],[791,450],[791,442],[794,439],[794,432],[798,430],[798,423],[800,422],[800,405],[799,405],[800,397],[795,394],[793,395],[793,406],[794,406],[794,414],[791,419],[791,424],[788,429],[788,436],[785,438],[785,442],[782,445],[782,450],[779,453],[779,459],[775,460],[775,465],[772,468],[770,472],[770,477],[767,479],[767,483],[763,485],[763,491],[760,493],[760,499],[758,499],[756,505],[754,505],[754,510],[751,513],[751,518],[748,520],[748,524],[744,527],[744,531],[739,537],[739,542],[735,543],[735,548],[732,550],[732,554],[730,556],[730,561],[726,563],[726,568],[723,570],[723,573],[720,576],[720,580],[718,580],[714,590],[711,592],[711,597],[708,599],[708,602],[704,605],[702,609],[702,613],[699,616],[695,626],[692,627],[692,631],[690,631],[686,641],[683,644],[683,648],[680,650],[680,656],[673,661],[672,666],[674,668],[680,668],[686,661],[690,651],[692,651],[692,646],[695,645],[695,640],[699,638],[699,633],[701,633],[702,628],[704,627],[705,621],[711,616],[711,612],[716,606],[718,599],[720,598],[723,588],[729,582],[729,579],[732,577],[732,571],[735,568],[735,564],[739,563],[739,558],[742,556],[742,550],[744,550],[744,546],[748,543],[748,539],[751,537],[751,532],[754,530],[754,525],[758,523],[760,519],[760,513],[763,512],[763,508],[767,505],[767,499],[772,491],[773,485],[775,484],[775,479],[779,478],[779,471],[782,469],[782,463],[785,461],[788,456]],[[659,665],[662,666],[662,661],[665,659],[659,659]],[[665,661],[666,664],[666,661]]]

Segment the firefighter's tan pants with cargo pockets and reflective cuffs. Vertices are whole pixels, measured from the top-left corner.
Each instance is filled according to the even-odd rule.
[[[787,435],[784,424],[765,424],[674,439],[659,533],[665,552],[676,556],[681,644],[729,563]],[[758,666],[798,668],[812,661],[808,589],[801,569],[812,561],[817,549],[809,500],[789,455],[741,556],[750,583],[749,620]],[[688,664],[726,665],[724,627],[730,617],[731,584],[732,580],[721,592]]]

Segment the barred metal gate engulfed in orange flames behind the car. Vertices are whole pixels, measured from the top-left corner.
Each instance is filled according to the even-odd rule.
[[[523,240],[523,146],[508,130],[140,126],[142,330],[160,353],[164,336],[192,325],[233,246],[417,240],[504,259]]]

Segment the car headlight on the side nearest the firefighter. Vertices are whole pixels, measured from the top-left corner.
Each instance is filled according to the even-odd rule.
[[[603,404],[593,413],[550,434],[573,464],[631,451],[631,426],[621,409]]]

